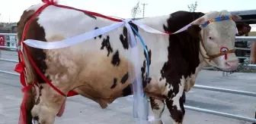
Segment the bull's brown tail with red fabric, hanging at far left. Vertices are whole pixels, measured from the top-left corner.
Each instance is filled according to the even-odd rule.
[[[33,6],[31,7],[33,8]],[[18,22],[18,45],[21,43],[21,38],[24,32],[24,26],[26,25],[27,21],[32,17],[32,15],[35,13],[34,9],[28,9],[24,11],[24,13],[21,15],[21,19]],[[21,52],[23,52],[21,50]],[[29,51],[28,51],[29,52]],[[19,54],[21,55],[21,54]],[[34,76],[34,70],[33,67],[31,67],[29,60],[26,57],[26,52],[22,53],[22,56],[24,57],[24,63],[25,63],[25,70],[26,73],[22,73],[21,82],[26,82],[27,87],[23,88],[22,91],[24,92],[24,98],[21,103],[21,112],[20,112],[20,119],[19,124],[32,124],[32,115],[31,110],[34,107],[35,104],[35,97],[37,90],[32,86],[36,76]],[[21,56],[19,56],[21,58]],[[21,73],[21,72],[20,72]],[[24,76],[25,75],[25,76]]]

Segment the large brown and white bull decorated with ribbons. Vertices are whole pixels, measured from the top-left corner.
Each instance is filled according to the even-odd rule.
[[[33,5],[21,15],[18,22],[19,41],[27,20],[42,5]],[[233,20],[212,22],[200,28],[200,24],[222,15],[228,15]],[[155,118],[161,118],[166,104],[172,122],[175,124],[183,122],[185,110],[182,93],[193,87],[197,74],[207,60],[213,60],[222,70],[237,68],[238,58],[232,52],[235,47],[234,20],[237,19],[240,17],[231,15],[228,11],[212,11],[206,14],[177,11],[170,15],[137,20],[154,29],[169,33],[174,33],[193,22],[186,31],[170,36],[146,33],[133,24],[145,40],[149,51],[148,84],[146,84],[146,57],[142,46],[139,49],[139,61],[145,93],[150,96]],[[112,23],[116,22],[50,5],[31,21],[25,39],[55,42]],[[226,55],[219,54],[225,52],[222,51],[222,47],[229,49]],[[107,104],[117,98],[133,94],[128,74],[130,45],[126,27],[67,48],[53,50],[29,46],[27,48],[29,53],[23,51],[27,72],[26,82],[32,84],[37,81],[39,84],[38,88],[31,88],[29,92],[28,123],[35,119],[40,124],[53,124],[56,114],[62,110],[63,102],[66,102],[66,97],[60,95],[36,73],[27,60],[27,54],[31,55],[44,76],[60,91],[68,94],[73,90],[97,102],[102,108],[106,108]],[[226,56],[226,59],[223,59],[223,56]],[[161,124],[162,121],[156,120],[154,123]]]

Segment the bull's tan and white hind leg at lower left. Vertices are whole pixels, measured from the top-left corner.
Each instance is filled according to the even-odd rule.
[[[66,98],[46,83],[41,83],[39,88],[39,97],[31,110],[34,123],[53,124],[56,114],[59,112],[63,102],[66,102]]]

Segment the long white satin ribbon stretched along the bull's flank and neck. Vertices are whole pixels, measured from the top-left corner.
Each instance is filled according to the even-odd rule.
[[[91,30],[90,32],[83,33],[81,35],[74,36],[74,37],[71,37],[69,39],[63,39],[61,41],[42,42],[42,41],[38,41],[38,40],[34,40],[34,39],[27,39],[27,40],[24,41],[24,43],[26,45],[29,45],[30,47],[33,47],[33,48],[42,48],[42,49],[66,48],[66,47],[69,47],[71,45],[78,44],[80,42],[85,42],[88,39],[92,39],[92,38],[94,38],[96,36],[100,36],[104,33],[110,32],[111,30],[114,30],[114,29],[117,29],[120,26],[123,26],[123,24],[125,24],[126,28],[128,29],[128,32],[130,34],[133,34],[133,31],[130,28],[130,24],[128,23],[129,21],[132,21],[134,24],[136,24],[136,26],[139,26],[141,29],[144,29],[148,33],[169,35],[168,33],[163,33],[163,32],[158,31],[156,29],[152,29],[151,27],[146,26],[145,24],[139,23],[139,21],[137,21],[137,20],[123,20],[123,22],[113,23],[110,26],[104,26],[104,27],[101,27],[99,29],[94,29],[94,30]],[[175,33],[183,32],[184,30],[187,29],[188,26],[190,26],[190,24],[188,24],[187,26],[184,26],[183,28],[179,29]],[[175,33],[173,33],[173,34],[175,34]],[[130,45],[131,45],[131,47],[136,45],[135,41],[136,41],[135,36],[130,35]]]

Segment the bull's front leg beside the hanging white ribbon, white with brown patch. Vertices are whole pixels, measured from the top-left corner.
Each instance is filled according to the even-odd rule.
[[[155,117],[155,120],[152,122],[152,124],[162,124],[161,116],[162,112],[165,110],[165,101],[157,100],[151,97],[149,97],[149,99]]]

